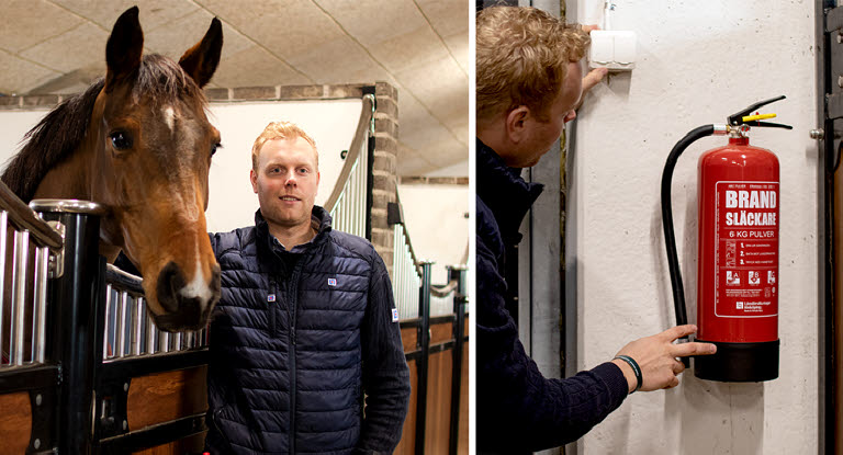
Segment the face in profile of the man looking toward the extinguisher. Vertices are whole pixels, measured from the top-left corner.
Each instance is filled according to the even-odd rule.
[[[583,72],[578,62],[567,64],[567,73],[555,100],[548,110],[548,116],[539,118],[535,113],[524,121],[525,138],[517,153],[506,157],[506,164],[513,168],[529,168],[539,162],[562,134],[567,122],[576,117],[574,107],[583,91]],[[512,162],[510,162],[512,161]]]

